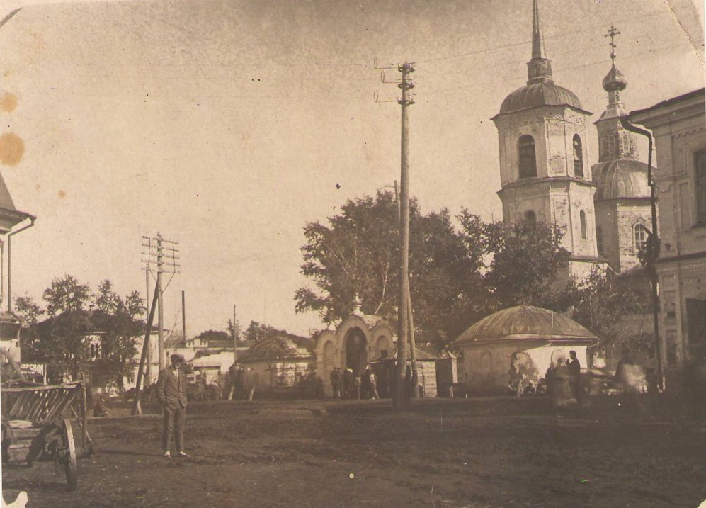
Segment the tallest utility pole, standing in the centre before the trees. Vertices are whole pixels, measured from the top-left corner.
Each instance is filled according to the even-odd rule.
[[[402,98],[397,101],[402,106],[402,129],[400,147],[399,179],[399,295],[397,299],[397,390],[394,406],[403,408],[409,405],[409,380],[406,379],[407,341],[409,340],[409,113],[407,108],[414,104],[409,90],[414,84],[409,74],[414,72],[412,64],[404,63],[397,67],[402,73]],[[410,373],[411,374],[411,373]]]

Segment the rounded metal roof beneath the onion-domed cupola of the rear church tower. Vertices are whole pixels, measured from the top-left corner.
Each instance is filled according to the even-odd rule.
[[[620,159],[593,166],[594,199],[649,198],[647,164]]]

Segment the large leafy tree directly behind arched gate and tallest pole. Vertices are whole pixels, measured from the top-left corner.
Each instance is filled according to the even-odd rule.
[[[297,290],[297,312],[318,312],[324,322],[335,322],[351,311],[358,294],[367,314],[397,313],[399,212],[394,194],[380,191],[349,200],[325,224],[309,222],[304,236],[302,273],[314,288]],[[448,316],[460,310],[459,296],[479,280],[477,260],[467,255],[447,210],[422,215],[414,200],[409,244],[415,324],[445,327]]]

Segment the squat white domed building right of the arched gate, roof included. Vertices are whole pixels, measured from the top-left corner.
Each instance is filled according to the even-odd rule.
[[[477,395],[508,393],[509,371],[521,363],[536,385],[547,368],[576,351],[586,366],[586,348],[598,337],[566,315],[518,305],[484,317],[452,344],[462,352],[460,380]]]

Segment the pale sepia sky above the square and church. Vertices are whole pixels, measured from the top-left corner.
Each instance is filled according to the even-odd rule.
[[[13,237],[13,298],[39,301],[64,274],[144,295],[142,236],[161,232],[181,263],[166,327],[181,331],[181,291],[188,337],[225,329],[234,305],[245,325],[323,327],[295,313],[304,225],[399,180],[399,89],[375,59],[385,81],[415,63],[423,212],[501,219],[490,119],[527,80],[530,0],[4,0],[0,18],[18,7],[0,27],[0,135],[24,150],[0,171],[38,219]],[[592,121],[611,24],[629,110],[704,86],[700,0],[539,8],[554,80]]]

